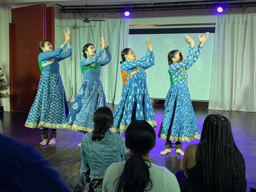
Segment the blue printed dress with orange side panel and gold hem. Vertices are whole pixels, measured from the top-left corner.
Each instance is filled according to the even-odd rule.
[[[114,126],[110,130],[124,134],[128,125],[135,120],[145,120],[152,127],[157,126],[144,71],[154,64],[155,57],[152,51],[148,51],[138,61],[124,61],[121,64],[122,98],[114,114]]]

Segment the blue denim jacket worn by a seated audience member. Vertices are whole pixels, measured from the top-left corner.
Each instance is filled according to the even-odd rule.
[[[124,138],[116,133],[106,132],[101,141],[91,139],[92,132],[86,133],[81,144],[80,185],[89,190],[91,179],[103,179],[107,167],[114,162],[125,160]]]

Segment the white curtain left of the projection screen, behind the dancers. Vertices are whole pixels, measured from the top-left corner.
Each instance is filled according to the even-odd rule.
[[[90,21],[85,23],[85,13],[61,14],[61,26],[71,28],[72,56],[62,61],[60,73],[69,102],[73,102],[81,87],[83,75],[80,59],[83,58],[82,48],[86,43],[93,43],[96,51],[101,48],[101,33],[105,33],[107,46],[110,47],[112,60],[101,67],[101,82],[107,103],[118,104],[121,100],[123,87],[120,63],[121,50],[128,45],[129,23],[122,14],[87,14],[89,19],[105,19],[106,21]],[[62,32],[63,36],[64,33]],[[64,37],[62,37],[64,39]],[[105,58],[103,53],[101,58]]]

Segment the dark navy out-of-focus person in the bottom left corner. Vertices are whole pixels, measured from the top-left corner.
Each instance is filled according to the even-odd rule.
[[[1,192],[69,192],[57,171],[33,146],[0,134]]]

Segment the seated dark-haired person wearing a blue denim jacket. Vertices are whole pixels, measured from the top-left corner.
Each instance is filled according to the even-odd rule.
[[[86,133],[81,144],[80,186],[83,191],[101,192],[107,167],[125,160],[124,138],[110,133],[114,117],[108,107],[94,112],[94,130]]]

